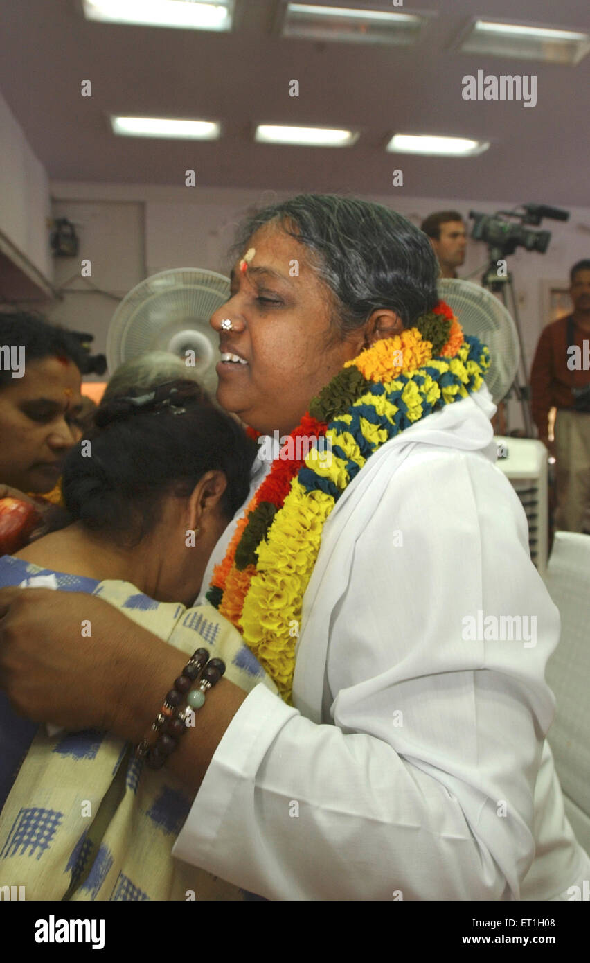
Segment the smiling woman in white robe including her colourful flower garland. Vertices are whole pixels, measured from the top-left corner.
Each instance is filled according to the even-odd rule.
[[[164,753],[194,795],[174,855],[269,899],[567,898],[590,860],[546,742],[559,617],[494,464],[487,349],[380,205],[295,197],[238,254],[218,402],[332,457],[259,458],[209,560],[195,611],[206,593],[279,695],[221,680]],[[462,638],[466,614],[523,604],[534,647]],[[0,611],[16,709],[141,743],[182,653],[93,597],[7,589]]]

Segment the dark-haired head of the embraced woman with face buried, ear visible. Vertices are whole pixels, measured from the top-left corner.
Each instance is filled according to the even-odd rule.
[[[152,553],[162,601],[192,603],[249,490],[256,445],[198,384],[178,380],[99,405],[67,456],[67,521],[99,542]]]

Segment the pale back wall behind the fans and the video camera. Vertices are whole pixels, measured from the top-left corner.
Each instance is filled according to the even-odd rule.
[[[51,193],[54,214],[77,221],[81,239],[76,261],[57,262],[56,283],[62,284],[66,276],[80,273],[80,260],[90,257],[93,284],[119,296],[139,283],[142,276],[169,268],[200,267],[226,273],[226,251],[244,211],[293,194],[61,182],[51,185]],[[401,190],[370,199],[395,208],[417,223],[434,210],[456,208],[467,217],[472,209],[493,212],[511,206],[457,201],[452,197],[408,197]],[[524,199],[551,203],[551,192],[547,197]],[[508,258],[518,293],[528,370],[539,333],[549,320],[545,316],[547,282],[567,286],[571,265],[582,257],[590,257],[590,208],[573,209],[566,223],[544,221],[541,227],[552,231],[546,254],[519,248]],[[478,279],[481,271],[476,269],[483,269],[486,256],[486,247],[470,240],[461,275],[466,277],[476,271],[474,279]],[[75,286],[84,290],[81,280]],[[115,300],[90,294],[89,290],[84,294],[66,294],[62,302],[54,303],[51,314],[67,325],[90,330],[96,336],[96,350],[104,351],[115,307]],[[515,407],[511,428],[518,427],[517,413]]]

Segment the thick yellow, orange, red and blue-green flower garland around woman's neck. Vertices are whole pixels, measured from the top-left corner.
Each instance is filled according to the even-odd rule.
[[[439,301],[414,327],[347,361],[281,449],[293,452],[297,436],[323,437],[329,459],[316,448],[301,460],[281,453],[274,459],[214,570],[207,598],[239,629],[285,701],[291,701],[295,669],[293,627],[300,624],[330,512],[374,452],[432,411],[477,391],[489,364],[488,349],[464,335]]]

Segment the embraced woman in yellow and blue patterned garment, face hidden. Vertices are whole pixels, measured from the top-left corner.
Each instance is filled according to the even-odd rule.
[[[99,596],[185,652],[197,702],[201,680],[215,684],[223,666],[245,691],[263,682],[276,692],[226,619],[210,605],[187,615],[183,604],[244,502],[256,446],[186,378],[115,395],[94,421],[65,458],[62,527],[0,558],[0,586]],[[91,621],[78,643],[92,646]],[[0,874],[28,899],[243,898],[173,859],[192,797],[153,756],[138,758],[114,733],[38,726],[0,691]]]

